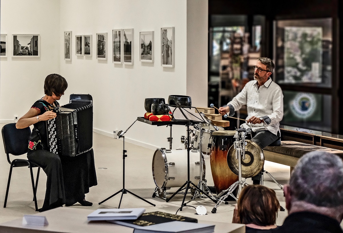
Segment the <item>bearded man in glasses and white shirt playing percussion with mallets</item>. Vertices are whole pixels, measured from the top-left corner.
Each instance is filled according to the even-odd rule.
[[[219,113],[233,116],[235,111],[247,105],[248,117],[240,127],[251,128],[252,141],[262,149],[280,139],[280,121],[283,116],[283,95],[279,85],[270,75],[274,69],[273,60],[261,57],[254,66],[254,79],[230,101]],[[263,169],[262,169],[263,172]],[[262,174],[252,177],[253,184],[260,184]]]

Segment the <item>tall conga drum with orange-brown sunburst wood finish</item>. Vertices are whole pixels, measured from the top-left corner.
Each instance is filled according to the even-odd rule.
[[[233,130],[223,130],[214,131],[211,134],[212,147],[210,165],[217,194],[228,189],[238,180],[238,176],[235,175],[227,165],[227,153],[234,144],[235,133],[236,131]]]

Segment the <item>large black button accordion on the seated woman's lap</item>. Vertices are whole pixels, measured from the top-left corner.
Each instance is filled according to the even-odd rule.
[[[46,121],[48,150],[59,156],[75,156],[93,146],[93,98],[70,95],[69,103],[55,108],[57,116]]]

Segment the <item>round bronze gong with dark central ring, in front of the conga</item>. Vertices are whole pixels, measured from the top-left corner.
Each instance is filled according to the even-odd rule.
[[[241,160],[242,177],[250,178],[259,174],[264,165],[264,155],[261,147],[255,142],[245,140],[245,159]],[[238,176],[238,159],[236,159],[236,149],[232,145],[227,153],[227,165],[234,174]]]

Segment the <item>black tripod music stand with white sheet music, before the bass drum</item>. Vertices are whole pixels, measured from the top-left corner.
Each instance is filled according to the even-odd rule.
[[[179,120],[179,121],[184,121],[185,122],[185,125],[187,126],[187,138],[189,138],[189,126],[190,125],[194,125],[195,123],[205,123],[204,119],[201,117],[201,115],[199,114],[199,116],[196,116],[194,115],[193,113],[187,111],[185,108],[194,108],[194,107],[189,107],[189,106],[170,106],[170,107],[175,107],[175,109],[173,110],[173,116],[174,116],[174,119],[175,119],[175,111],[180,111],[178,112],[179,116],[182,117],[183,116],[183,119]],[[181,116],[182,114],[182,116]],[[176,116],[177,117],[177,116]],[[178,119],[175,119],[175,120],[178,120]],[[166,199],[166,202],[168,202],[171,198],[173,198],[176,194],[178,194],[178,192],[180,192],[185,186],[186,186],[186,190],[185,190],[185,194],[184,194],[184,198],[182,200],[182,203],[181,203],[181,208],[180,208],[180,211],[182,211],[182,208],[184,206],[186,206],[185,204],[185,199],[186,199],[186,195],[188,193],[188,190],[190,189],[190,185],[193,185],[195,187],[196,190],[198,190],[200,193],[204,194],[206,197],[210,198],[211,201],[213,202],[217,202],[216,200],[214,200],[213,198],[211,198],[206,192],[204,192],[203,190],[199,189],[197,185],[195,185],[189,178],[189,144],[187,146],[187,180],[185,182],[185,184],[183,184],[176,192],[173,193],[173,195],[171,195],[169,198]],[[201,163],[202,161],[200,161]],[[200,174],[201,176],[202,174]]]

